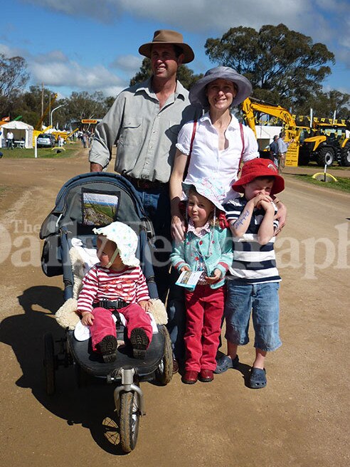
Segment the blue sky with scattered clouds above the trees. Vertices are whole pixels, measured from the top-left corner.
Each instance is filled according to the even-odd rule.
[[[326,44],[336,64],[324,90],[350,93],[350,0],[11,0],[1,17],[0,53],[26,58],[30,84],[60,97],[117,95],[139,70],[139,46],[159,28],[183,33],[196,55],[189,67],[203,73],[214,66],[207,38],[279,23]]]

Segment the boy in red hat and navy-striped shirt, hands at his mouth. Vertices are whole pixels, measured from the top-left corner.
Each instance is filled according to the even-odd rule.
[[[237,367],[238,345],[248,343],[250,313],[255,330],[255,360],[249,386],[260,389],[267,384],[265,357],[282,342],[279,337],[278,288],[274,220],[277,208],[273,195],[285,182],[269,159],[253,159],[244,164],[233,189],[243,196],[226,204],[226,217],[233,234],[233,264],[228,275],[225,305],[226,339],[230,367]]]

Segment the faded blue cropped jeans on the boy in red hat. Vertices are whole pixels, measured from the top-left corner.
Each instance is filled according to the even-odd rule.
[[[279,335],[279,300],[277,282],[235,284],[228,280],[225,303],[226,339],[235,345],[249,342],[250,313],[255,331],[254,347],[266,352],[282,345]]]

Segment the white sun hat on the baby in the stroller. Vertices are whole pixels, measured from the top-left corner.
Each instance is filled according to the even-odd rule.
[[[105,236],[108,240],[114,241],[117,245],[117,250],[110,259],[107,268],[115,261],[118,253],[125,266],[139,266],[139,259],[135,256],[139,238],[127,224],[112,222],[112,224],[108,226],[93,229],[93,232],[94,234]]]

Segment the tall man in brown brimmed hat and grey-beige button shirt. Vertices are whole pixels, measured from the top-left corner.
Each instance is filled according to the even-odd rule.
[[[139,53],[151,59],[152,76],[123,90],[97,125],[90,170],[107,167],[117,141],[115,171],[134,185],[156,236],[161,237],[156,243],[162,251],[155,253],[154,275],[159,297],[165,301],[171,253],[168,182],[177,134],[185,122],[200,115],[198,108],[190,106],[189,92],[176,80],[176,72],[181,63],[193,61],[194,53],[180,33],[165,29],[155,31],[152,42],[140,46]],[[176,337],[171,340],[174,343]]]

